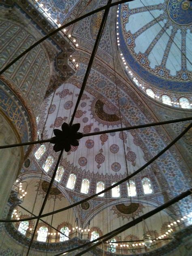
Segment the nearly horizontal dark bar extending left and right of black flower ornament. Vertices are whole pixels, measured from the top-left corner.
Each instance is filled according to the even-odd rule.
[[[117,129],[112,129],[112,130],[85,133],[85,134],[83,134],[83,137],[99,135],[99,134],[106,134],[106,133],[110,133],[110,132],[134,130],[134,129],[164,125],[164,124],[174,124],[174,123],[185,122],[185,121],[190,121],[190,120],[192,120],[192,117],[185,117],[185,118],[181,118],[181,119],[173,119],[173,120],[169,120],[169,121],[162,121],[162,122],[156,122],[156,123],[150,123],[150,124],[140,124],[137,126],[130,126],[130,127],[117,128]],[[4,146],[0,146],[0,149],[10,148],[10,147],[21,147],[21,146],[32,145],[32,144],[41,144],[41,143],[47,143],[50,141],[51,141],[51,139],[46,139],[46,140],[42,140],[42,141],[30,141],[30,142],[17,143],[17,144],[11,144],[11,145],[4,145]]]

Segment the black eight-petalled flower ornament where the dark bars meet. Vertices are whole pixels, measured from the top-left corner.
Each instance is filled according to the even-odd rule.
[[[77,132],[80,128],[80,124],[73,124],[69,126],[66,123],[62,124],[62,131],[58,129],[54,129],[53,132],[55,137],[51,138],[50,143],[55,144],[53,146],[53,150],[55,152],[65,150],[68,152],[72,146],[79,146],[79,139],[83,137],[81,132]]]

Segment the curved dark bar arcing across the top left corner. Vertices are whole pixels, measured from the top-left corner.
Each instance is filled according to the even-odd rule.
[[[55,30],[53,30],[51,33],[47,34],[46,36],[44,36],[43,38],[41,38],[40,40],[38,40],[36,43],[34,43],[33,45],[31,45],[28,49],[26,49],[25,51],[23,51],[23,53],[21,53],[19,56],[17,56],[17,58],[15,58],[12,62],[10,62],[8,65],[6,65],[1,71],[0,71],[0,75],[2,75],[2,73],[4,73],[10,66],[12,66],[15,62],[17,62],[17,60],[19,60],[21,57],[23,57],[26,53],[28,53],[30,50],[32,50],[34,47],[36,47],[37,45],[39,45],[40,43],[42,43],[43,41],[45,41],[47,38],[49,38],[50,36],[53,36],[54,34],[56,34],[57,32],[59,32],[60,30],[76,23],[77,21],[80,21],[81,19],[84,19],[86,17],[89,17],[90,15],[94,14],[94,13],[98,13],[99,11],[105,10],[105,9],[109,9],[112,6],[118,5],[118,4],[123,4],[125,2],[131,2],[133,0],[121,0],[119,2],[114,2],[111,4],[107,4],[105,6],[102,6],[94,11],[91,11],[90,13],[86,13],[85,15],[80,16],[77,19],[74,19],[73,21],[70,21],[68,23],[66,23],[65,25],[61,26],[60,28],[57,28]]]

